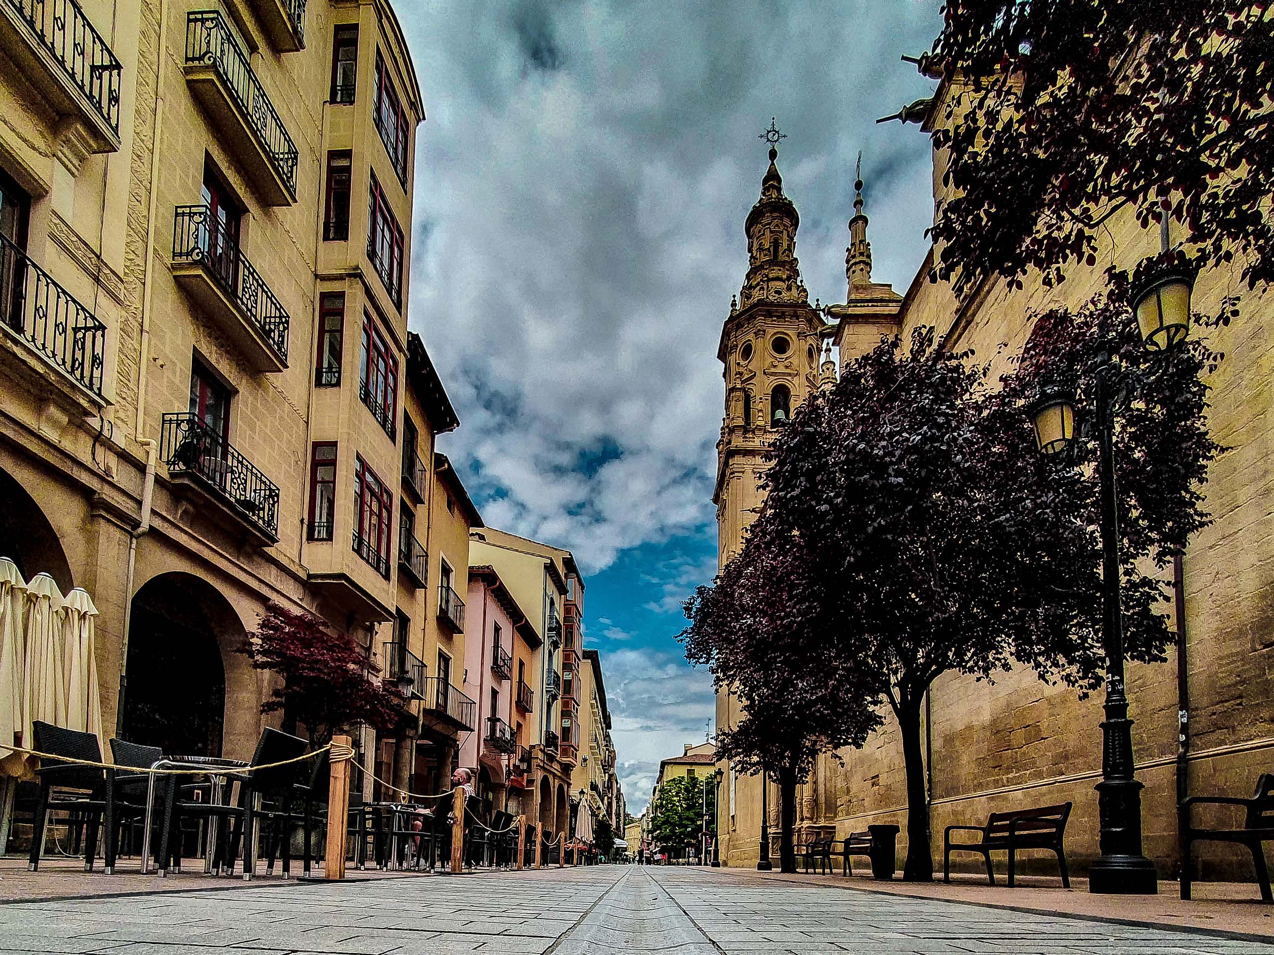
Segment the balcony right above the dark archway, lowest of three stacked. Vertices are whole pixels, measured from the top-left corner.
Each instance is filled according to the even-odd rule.
[[[279,540],[279,489],[199,415],[163,416],[159,455],[173,480],[189,480],[262,541]]]

